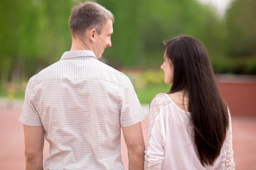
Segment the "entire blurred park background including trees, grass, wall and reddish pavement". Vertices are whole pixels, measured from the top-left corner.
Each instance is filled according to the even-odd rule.
[[[70,50],[68,19],[71,8],[79,2],[0,1],[0,169],[24,169],[23,128],[18,116],[26,84]],[[105,50],[101,60],[127,74],[145,113],[151,98],[171,87],[164,84],[160,69],[163,41],[191,35],[206,45],[233,117],[236,169],[255,169],[256,1],[97,2],[112,11],[115,20],[112,47]],[[146,120],[142,125],[146,141]],[[45,150],[48,155],[47,146]]]

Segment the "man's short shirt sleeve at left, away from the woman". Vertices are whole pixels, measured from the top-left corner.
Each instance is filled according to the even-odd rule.
[[[32,98],[33,85],[30,80],[28,81],[28,85],[26,86],[23,108],[18,121],[20,121],[24,125],[42,126],[41,119],[36,111],[36,108],[33,106]]]

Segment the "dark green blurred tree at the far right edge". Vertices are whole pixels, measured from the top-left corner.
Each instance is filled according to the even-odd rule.
[[[234,0],[225,16],[227,54],[235,61],[237,74],[256,74],[255,16],[255,0]]]

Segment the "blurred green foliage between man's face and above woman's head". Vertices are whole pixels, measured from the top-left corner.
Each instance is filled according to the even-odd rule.
[[[212,47],[213,42],[220,40],[215,35],[222,34],[215,11],[198,1],[98,2],[115,15],[112,49],[105,52],[115,67],[158,67],[164,40],[187,34],[196,36]],[[210,51],[216,53],[216,50]]]

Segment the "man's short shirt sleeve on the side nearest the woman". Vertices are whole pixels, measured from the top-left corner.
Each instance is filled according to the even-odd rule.
[[[122,127],[135,125],[145,119],[142,106],[134,91],[132,82],[125,77],[121,95],[121,115],[120,123]]]

